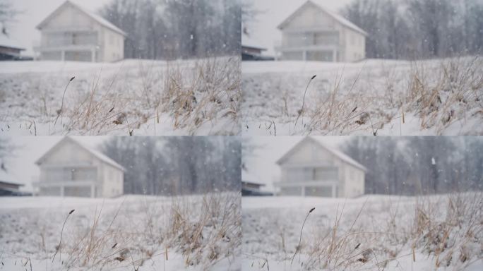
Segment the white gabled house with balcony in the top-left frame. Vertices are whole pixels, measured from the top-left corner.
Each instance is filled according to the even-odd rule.
[[[66,1],[37,25],[41,60],[112,62],[124,59],[126,33],[101,16]]]

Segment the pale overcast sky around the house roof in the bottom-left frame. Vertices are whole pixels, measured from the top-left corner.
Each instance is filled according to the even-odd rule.
[[[8,172],[0,172],[2,179],[13,181],[16,183],[24,183],[23,190],[30,191],[32,189],[32,178],[39,176],[39,168],[35,161],[42,157],[51,147],[58,143],[63,137],[61,136],[18,136],[7,137],[11,145],[15,145],[15,151],[6,160]],[[108,137],[103,136],[73,136],[86,146],[96,148]]]

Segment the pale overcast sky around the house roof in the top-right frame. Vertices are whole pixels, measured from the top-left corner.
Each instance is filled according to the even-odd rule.
[[[273,54],[275,42],[280,42],[281,34],[277,26],[285,18],[297,10],[306,0],[242,0],[249,1],[260,13],[256,20],[248,25],[251,37],[268,48],[268,54]],[[339,11],[340,8],[353,0],[318,0],[325,8]]]

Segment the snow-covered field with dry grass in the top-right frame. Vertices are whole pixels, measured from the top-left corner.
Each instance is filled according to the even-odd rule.
[[[483,59],[476,57],[249,61],[241,71],[242,134],[483,135]]]

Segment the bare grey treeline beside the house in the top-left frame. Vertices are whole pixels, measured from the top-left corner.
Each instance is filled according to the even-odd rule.
[[[127,32],[126,58],[239,54],[240,0],[112,0],[101,15]]]

